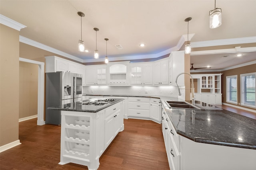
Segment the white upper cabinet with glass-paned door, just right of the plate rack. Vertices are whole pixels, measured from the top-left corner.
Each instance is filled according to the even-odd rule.
[[[130,64],[130,84],[152,85],[153,64]]]

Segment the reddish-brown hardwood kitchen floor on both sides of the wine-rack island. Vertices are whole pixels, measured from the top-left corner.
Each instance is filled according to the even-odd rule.
[[[0,153],[0,170],[88,170],[78,164],[59,165],[60,126],[37,126],[36,120],[19,123],[22,144]],[[169,170],[161,125],[124,119],[124,131],[100,157],[98,170]]]

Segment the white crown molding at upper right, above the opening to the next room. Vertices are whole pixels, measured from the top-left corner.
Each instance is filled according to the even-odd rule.
[[[212,40],[212,41],[192,42],[190,44],[191,44],[191,48],[197,48],[197,47],[211,47],[211,46],[218,46],[218,45],[245,44],[245,43],[256,43],[256,37],[218,39],[218,40]]]

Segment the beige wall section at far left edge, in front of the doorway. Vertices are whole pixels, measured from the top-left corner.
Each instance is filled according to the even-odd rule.
[[[0,146],[19,139],[19,31],[0,24]]]

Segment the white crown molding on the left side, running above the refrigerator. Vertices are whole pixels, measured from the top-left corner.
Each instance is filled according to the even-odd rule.
[[[68,53],[64,53],[60,50],[54,49],[54,48],[44,45],[42,43],[38,43],[38,42],[28,39],[26,37],[22,37],[21,35],[20,35],[20,42],[31,45],[33,47],[37,47],[37,48],[52,52],[52,53],[55,53],[55,54],[58,54],[58,55],[61,55],[63,57],[67,57],[67,58],[75,60],[75,61],[79,61],[81,63],[83,62],[83,59],[80,59],[80,58],[70,55]]]

